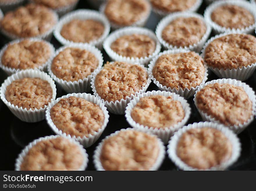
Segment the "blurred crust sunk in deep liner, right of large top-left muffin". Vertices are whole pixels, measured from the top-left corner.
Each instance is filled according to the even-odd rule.
[[[96,20],[73,19],[64,24],[61,36],[73,42],[91,42],[99,39],[104,33],[104,25]]]

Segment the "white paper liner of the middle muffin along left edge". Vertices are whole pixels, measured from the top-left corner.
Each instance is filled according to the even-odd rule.
[[[42,41],[43,41],[43,42],[46,42],[46,43],[49,45],[49,48],[50,48],[50,50],[51,50],[51,56],[50,56],[50,58],[49,58],[44,64],[42,64],[41,66],[39,66],[38,68],[33,68],[33,69],[39,69],[40,71],[45,71],[45,72],[46,72],[47,65],[48,65],[48,63],[52,60],[52,57],[54,56],[54,53],[55,53],[55,48],[54,48],[54,46],[53,46],[51,43],[49,43],[49,42],[47,42],[47,41],[45,41],[45,40],[42,40],[42,39],[40,39],[40,38],[27,38],[27,39],[30,40],[30,41],[33,41],[33,42],[42,42]],[[10,68],[10,67],[7,67],[7,66],[3,65],[3,63],[2,63],[2,56],[3,56],[3,53],[6,51],[6,49],[7,49],[7,47],[8,47],[9,45],[19,43],[19,42],[21,42],[21,41],[23,41],[23,40],[26,40],[26,38],[22,38],[22,39],[18,39],[18,40],[13,40],[12,42],[9,42],[8,44],[6,44],[6,45],[1,49],[1,51],[0,51],[0,67],[1,67],[1,68],[3,69],[3,71],[4,71],[6,74],[8,74],[8,75],[11,75],[11,74],[14,74],[14,73],[16,73],[16,72],[19,72],[20,69]]]

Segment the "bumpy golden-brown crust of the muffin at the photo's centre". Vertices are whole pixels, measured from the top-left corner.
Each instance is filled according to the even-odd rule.
[[[95,89],[104,101],[120,101],[147,84],[144,67],[125,62],[106,63],[95,77]]]

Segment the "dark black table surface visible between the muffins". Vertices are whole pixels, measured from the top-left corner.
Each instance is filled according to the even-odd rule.
[[[91,8],[86,1],[80,1],[77,8]],[[198,13],[203,14],[206,8],[206,4],[203,2]],[[156,17],[154,13],[151,13],[150,18],[145,27],[155,31],[157,23],[159,22],[159,18]],[[211,34],[213,36],[214,34]],[[255,34],[254,34],[255,35]],[[4,44],[9,42],[3,35],[0,35],[0,46],[3,47]],[[54,47],[57,49],[61,46],[61,44],[53,37],[51,39],[51,43],[54,44]],[[106,55],[105,51],[102,51],[104,55],[104,63],[109,60],[109,57]],[[1,70],[0,71],[0,83],[8,76]],[[218,77],[209,71],[208,81],[213,79],[218,79]],[[253,90],[256,90],[256,74],[254,73],[245,83],[250,85]],[[57,88],[57,96],[61,97],[66,95],[67,93],[61,89],[58,85]],[[147,89],[147,91],[158,90],[157,86],[152,82]],[[92,92],[91,92],[92,93]],[[193,97],[188,99],[188,102],[191,106],[192,112],[191,117],[187,124],[193,122],[200,122],[202,118],[200,117],[195,105],[193,103]],[[93,152],[95,147],[99,144],[99,142],[105,138],[107,135],[120,130],[122,128],[128,128],[130,125],[127,123],[124,115],[114,115],[109,113],[109,123],[106,126],[106,129],[102,133],[99,140],[93,144],[91,147],[87,148],[86,151],[89,155],[89,163],[86,170],[95,170],[93,165]],[[232,165],[229,170],[256,170],[256,121],[254,120],[246,130],[238,135],[241,144],[242,151],[241,156],[238,161]],[[14,170],[15,159],[21,150],[34,139],[44,137],[47,135],[53,135],[54,133],[51,131],[46,121],[43,120],[37,123],[26,123],[20,121],[17,117],[15,117],[7,106],[0,101],[0,145],[1,145],[1,157],[0,157],[0,170]],[[175,165],[171,162],[171,160],[166,155],[163,164],[161,165],[159,170],[178,170]]]

